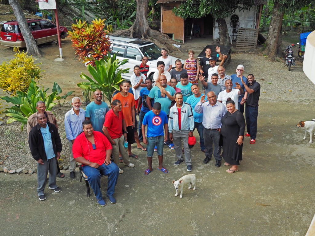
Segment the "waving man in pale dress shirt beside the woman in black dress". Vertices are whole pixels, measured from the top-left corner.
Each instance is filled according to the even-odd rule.
[[[201,96],[200,101],[195,106],[195,112],[202,113],[202,124],[204,127],[203,138],[206,147],[206,158],[203,160],[207,164],[213,156],[215,157],[215,166],[221,166],[221,147],[219,145],[221,135],[221,119],[226,113],[226,106],[217,101],[214,92],[207,93],[209,102],[205,101],[205,95]],[[212,143],[214,151],[212,150]]]

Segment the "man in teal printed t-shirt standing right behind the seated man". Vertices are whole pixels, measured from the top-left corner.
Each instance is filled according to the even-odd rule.
[[[103,94],[100,90],[94,92],[93,98],[94,101],[85,108],[85,120],[91,120],[93,129],[103,133],[105,115],[109,109],[107,104],[102,101]]]

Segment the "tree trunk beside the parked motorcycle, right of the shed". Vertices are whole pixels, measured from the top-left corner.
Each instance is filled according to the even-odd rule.
[[[271,61],[275,61],[276,57],[282,57],[280,53],[281,41],[282,41],[282,21],[284,13],[279,11],[280,3],[274,1],[272,18],[270,20],[270,26],[268,31],[268,37],[266,40],[265,54]]]

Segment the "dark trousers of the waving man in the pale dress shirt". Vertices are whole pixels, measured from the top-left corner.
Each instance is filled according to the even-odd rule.
[[[221,132],[217,131],[216,129],[204,129],[203,130],[203,136],[205,140],[205,146],[206,146],[206,157],[211,158],[212,157],[212,152],[213,156],[215,157],[215,160],[220,160],[222,159],[221,157],[221,147],[219,145],[220,143],[220,135]],[[212,143],[214,146],[214,150],[212,148]]]

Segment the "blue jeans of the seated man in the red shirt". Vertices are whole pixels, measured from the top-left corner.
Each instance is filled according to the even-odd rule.
[[[88,176],[88,181],[91,188],[94,190],[94,194],[97,200],[102,199],[102,192],[100,191],[100,177],[101,175],[108,176],[107,183],[107,195],[114,195],[115,186],[117,184],[119,168],[114,163],[111,162],[108,166],[105,164],[99,166],[98,168],[93,168],[91,166],[82,166],[83,172]]]

